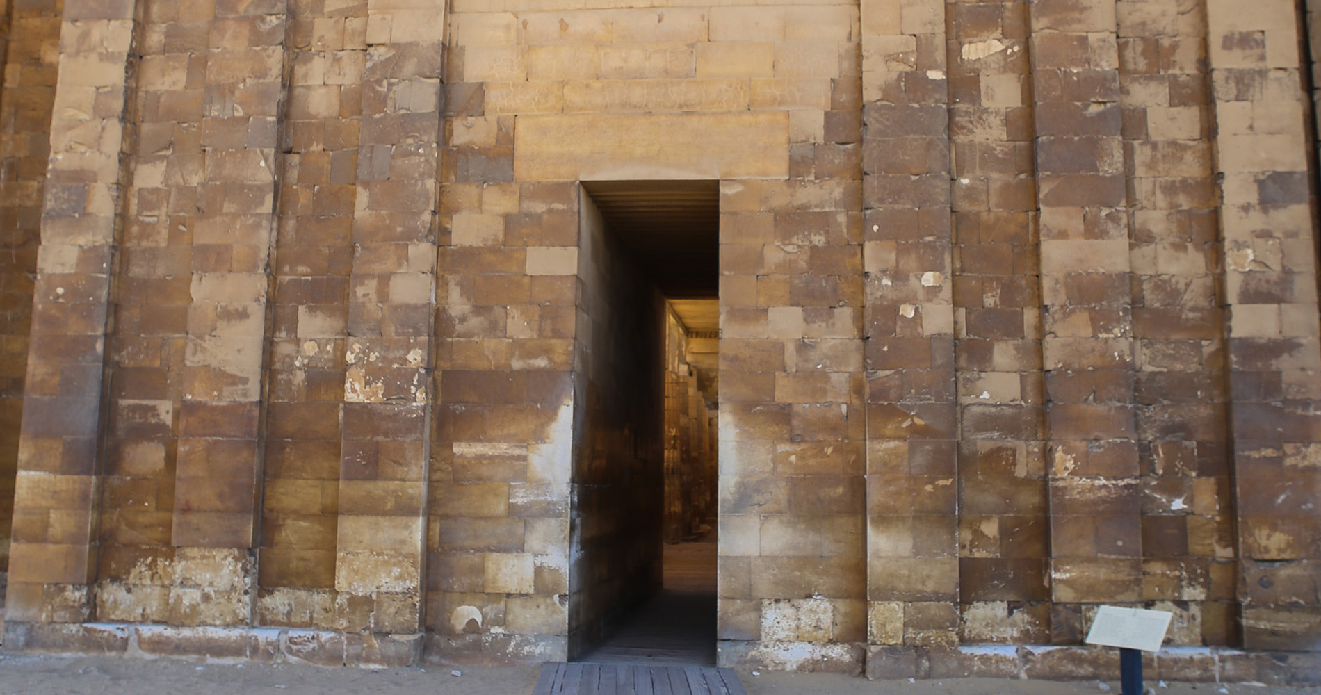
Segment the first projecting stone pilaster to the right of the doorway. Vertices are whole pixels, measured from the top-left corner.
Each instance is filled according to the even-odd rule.
[[[863,3],[868,673],[959,613],[946,5]]]

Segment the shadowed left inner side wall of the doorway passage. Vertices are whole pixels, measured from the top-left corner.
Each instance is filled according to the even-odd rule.
[[[585,192],[569,527],[569,657],[660,589],[664,309]]]

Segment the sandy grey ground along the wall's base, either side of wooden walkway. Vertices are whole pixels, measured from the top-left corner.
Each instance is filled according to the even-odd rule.
[[[0,695],[530,695],[538,669],[322,669],[199,665],[174,659],[0,655]],[[1069,695],[1119,694],[1119,683],[1049,683],[982,678],[876,680],[831,674],[740,674],[750,695]],[[1148,682],[1156,695],[1321,695],[1321,688]]]

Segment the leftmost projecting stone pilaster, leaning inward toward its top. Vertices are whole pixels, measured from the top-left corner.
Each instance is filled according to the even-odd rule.
[[[9,621],[90,613],[125,95],[137,3],[65,8],[18,441]]]

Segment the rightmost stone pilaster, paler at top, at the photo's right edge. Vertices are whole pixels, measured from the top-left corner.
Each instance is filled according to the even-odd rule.
[[[1243,646],[1317,650],[1321,346],[1295,3],[1209,0]]]

